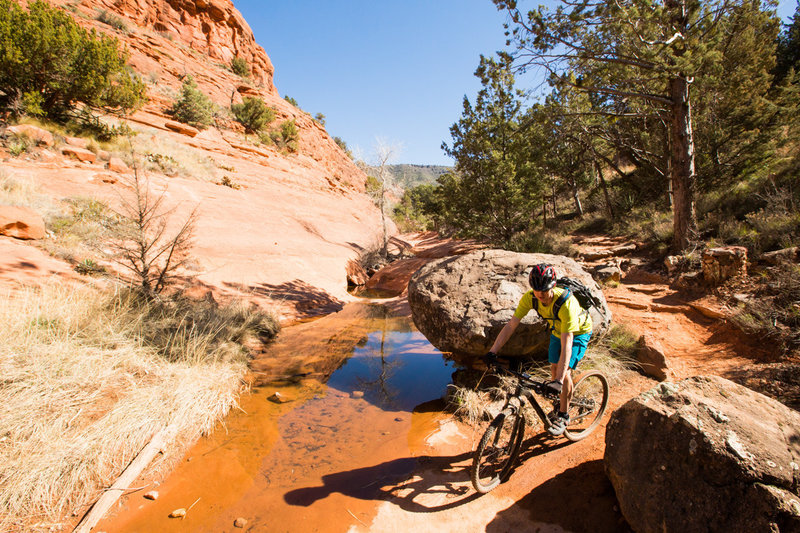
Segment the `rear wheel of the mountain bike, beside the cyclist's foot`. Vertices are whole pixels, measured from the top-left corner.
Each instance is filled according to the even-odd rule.
[[[589,436],[608,407],[608,380],[600,372],[587,372],[575,383],[569,402],[569,423],[564,436],[572,442]]]

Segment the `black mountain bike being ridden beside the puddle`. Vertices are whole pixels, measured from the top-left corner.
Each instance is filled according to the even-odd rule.
[[[525,433],[524,402],[533,408],[542,420],[545,429],[552,425],[535,394],[559,407],[556,394],[547,391],[546,381],[533,379],[529,374],[495,367],[507,373],[514,383],[514,392],[506,399],[500,414],[492,420],[481,438],[472,461],[470,475],[472,485],[481,494],[486,494],[508,479],[514,463],[519,457]],[[608,407],[608,380],[597,370],[581,374],[572,392],[568,414],[569,422],[564,436],[572,442],[586,438],[600,424]]]

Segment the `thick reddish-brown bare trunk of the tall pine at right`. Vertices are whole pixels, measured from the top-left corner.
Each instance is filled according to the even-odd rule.
[[[689,100],[689,80],[676,76],[670,80],[671,107],[671,178],[673,207],[673,251],[689,247],[697,232],[694,208],[695,182],[694,139],[692,113]]]

